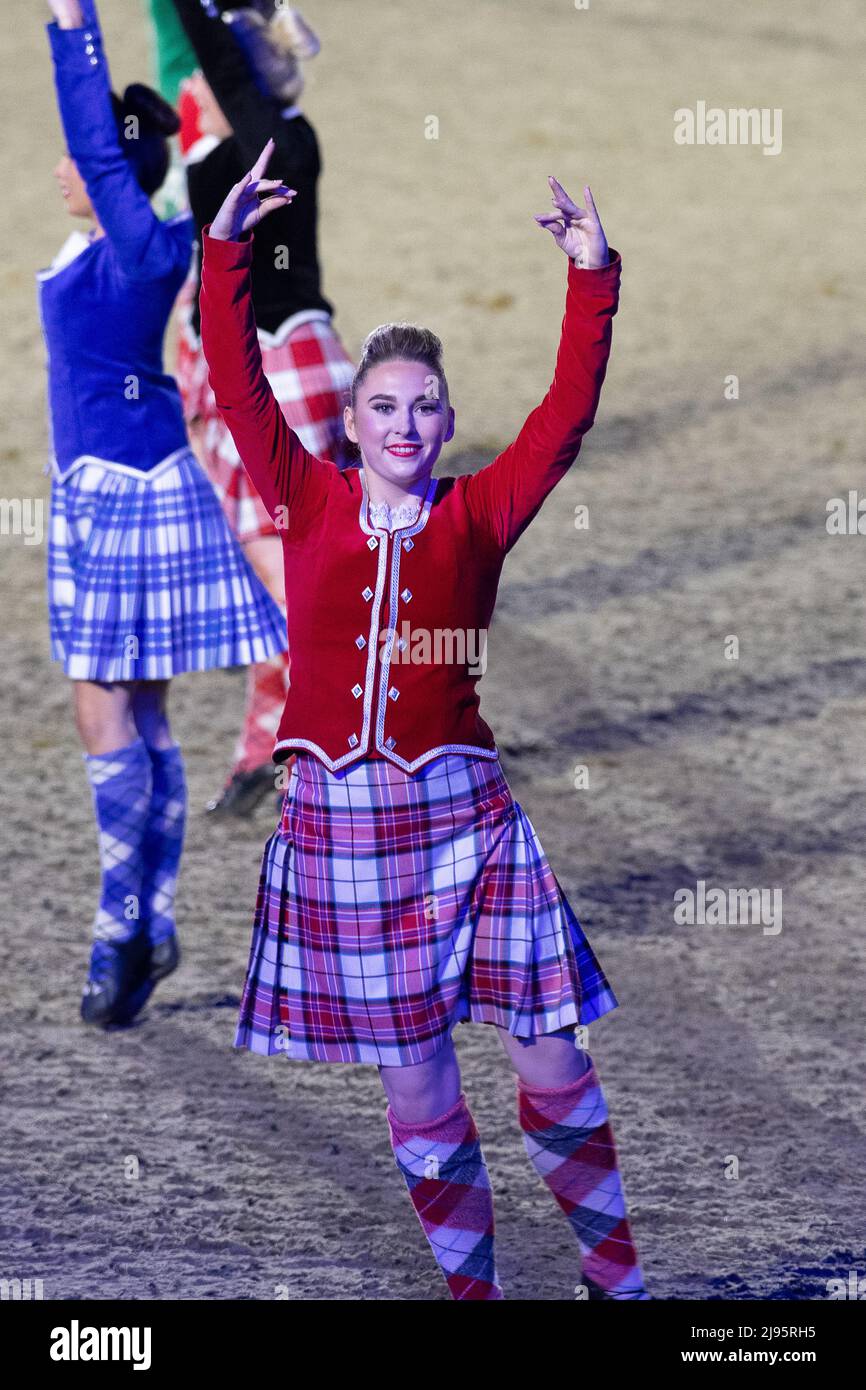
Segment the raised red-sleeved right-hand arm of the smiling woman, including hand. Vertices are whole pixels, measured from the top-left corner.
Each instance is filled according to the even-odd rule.
[[[610,354],[621,260],[609,250],[589,189],[577,208],[550,179],[556,215],[539,215],[569,256],[566,313],[553,381],[520,434],[492,463],[466,480],[471,512],[510,550],[548,493],[574,463],[592,428]],[[580,265],[585,268],[578,268]]]

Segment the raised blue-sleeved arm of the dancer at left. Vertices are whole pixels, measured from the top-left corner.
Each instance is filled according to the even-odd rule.
[[[178,245],[121,149],[95,0],[50,4],[56,18],[46,32],[70,157],[124,272],[158,279],[177,268]]]

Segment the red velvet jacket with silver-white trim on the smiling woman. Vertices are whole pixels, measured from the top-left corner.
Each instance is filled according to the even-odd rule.
[[[307,453],[261,370],[250,302],[253,235],[203,231],[202,345],[217,406],[281,531],[291,689],[274,759],[293,748],[332,771],[382,756],[409,773],[442,753],[496,758],[478,713],[487,630],[503,560],[591,428],[610,352],[621,261],[569,261],[553,382],[480,473],[431,478],[414,525],[367,514],[361,468]]]

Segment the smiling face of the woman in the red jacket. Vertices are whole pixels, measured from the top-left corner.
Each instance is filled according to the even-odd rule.
[[[455,432],[455,411],[423,361],[371,367],[343,421],[364,467],[400,488],[430,478],[442,445]]]

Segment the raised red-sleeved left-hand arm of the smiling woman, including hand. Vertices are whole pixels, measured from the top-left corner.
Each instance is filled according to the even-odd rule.
[[[228,193],[202,232],[202,348],[220,414],[278,530],[303,527],[325,500],[335,466],[317,459],[286,424],[263,366],[250,295],[252,228],[293,190],[260,178],[265,145],[249,174]],[[259,192],[271,196],[259,202]],[[278,510],[281,509],[281,510]]]

